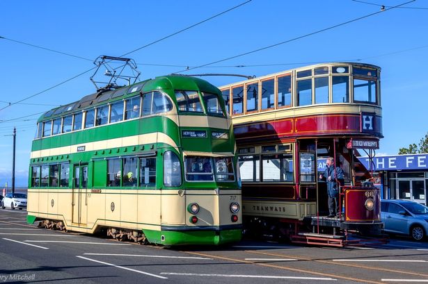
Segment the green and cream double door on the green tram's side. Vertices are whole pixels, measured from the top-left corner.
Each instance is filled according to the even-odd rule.
[[[74,165],[72,223],[86,225],[88,219],[88,165]]]

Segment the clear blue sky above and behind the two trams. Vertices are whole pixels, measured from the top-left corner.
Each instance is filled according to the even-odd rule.
[[[246,0],[0,1],[0,108],[84,72],[97,56],[121,56],[219,14]],[[366,3],[361,3],[366,2]],[[127,57],[141,79],[171,74],[285,42],[364,17],[406,0],[252,0]],[[379,153],[396,154],[428,131],[428,1],[413,1],[270,49],[188,73],[262,76],[317,62],[357,61],[381,73],[383,135]],[[84,60],[29,45],[88,58]],[[154,65],[176,65],[154,66]],[[244,65],[246,67],[232,67]],[[251,66],[257,65],[257,66]],[[26,185],[39,115],[95,92],[91,72],[0,110],[0,187],[10,185],[13,126],[17,186]],[[236,77],[204,77],[214,85]],[[18,117],[24,117],[16,119]],[[12,120],[10,120],[12,119]]]

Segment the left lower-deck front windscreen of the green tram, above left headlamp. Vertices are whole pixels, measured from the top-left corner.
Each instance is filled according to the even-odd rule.
[[[187,156],[184,160],[186,181],[214,181],[212,160],[209,157]]]

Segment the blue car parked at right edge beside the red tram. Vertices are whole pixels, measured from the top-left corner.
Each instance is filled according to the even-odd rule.
[[[386,233],[424,240],[428,232],[428,207],[409,200],[382,200],[381,220]]]

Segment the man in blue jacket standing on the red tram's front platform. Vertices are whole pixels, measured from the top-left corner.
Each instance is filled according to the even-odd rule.
[[[328,157],[324,174],[319,174],[319,178],[327,183],[328,194],[328,217],[339,216],[339,186],[338,180],[343,180],[344,174],[341,167],[335,167],[334,158]]]

